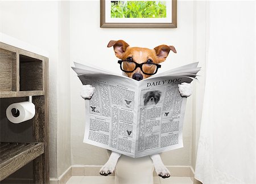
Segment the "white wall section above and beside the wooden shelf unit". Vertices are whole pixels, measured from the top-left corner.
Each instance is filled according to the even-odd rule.
[[[59,11],[61,8],[61,11]],[[0,32],[49,53],[49,166],[50,177],[60,176],[71,165],[69,32],[61,22],[65,5],[57,1],[1,1]],[[64,43],[64,44],[63,44]]]

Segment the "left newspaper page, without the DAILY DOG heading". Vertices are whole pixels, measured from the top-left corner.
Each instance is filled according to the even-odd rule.
[[[83,84],[95,87],[92,99],[85,100],[84,143],[134,157],[138,112],[136,81],[111,75],[80,75],[79,78]]]

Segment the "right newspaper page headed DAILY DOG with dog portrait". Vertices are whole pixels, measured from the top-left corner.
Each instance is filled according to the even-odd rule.
[[[182,76],[148,78],[139,83],[139,108],[135,157],[183,147],[186,97],[178,84],[190,83]]]

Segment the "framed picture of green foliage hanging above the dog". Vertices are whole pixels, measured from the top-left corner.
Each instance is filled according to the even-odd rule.
[[[101,28],[176,28],[177,0],[101,0]]]

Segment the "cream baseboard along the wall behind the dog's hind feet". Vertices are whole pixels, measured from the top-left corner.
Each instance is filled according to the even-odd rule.
[[[72,176],[101,176],[100,165],[72,165],[59,178],[50,178],[50,184],[65,184]],[[191,177],[195,182],[195,172],[191,166],[166,166],[173,177]],[[110,176],[114,176],[114,172]],[[154,176],[157,174],[154,172]],[[199,182],[199,181],[198,181]],[[200,183],[196,184],[200,184]]]

